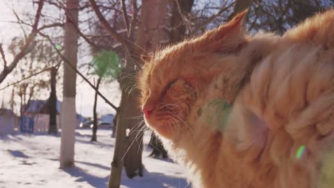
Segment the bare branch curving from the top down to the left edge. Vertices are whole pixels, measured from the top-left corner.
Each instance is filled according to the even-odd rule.
[[[21,51],[14,57],[14,60],[10,65],[6,66],[6,68],[3,68],[2,72],[0,73],[0,83],[6,79],[7,75],[13,71],[13,69],[16,67],[17,63],[26,55],[29,53],[29,48],[31,47],[31,44],[33,42],[33,39],[35,38],[36,34],[38,33],[38,22],[40,21],[40,15],[42,12],[44,0],[38,1],[38,8],[35,15],[35,21],[33,23],[33,29],[31,30],[31,33],[29,34],[28,38],[26,38],[26,42],[24,46],[22,47]]]

